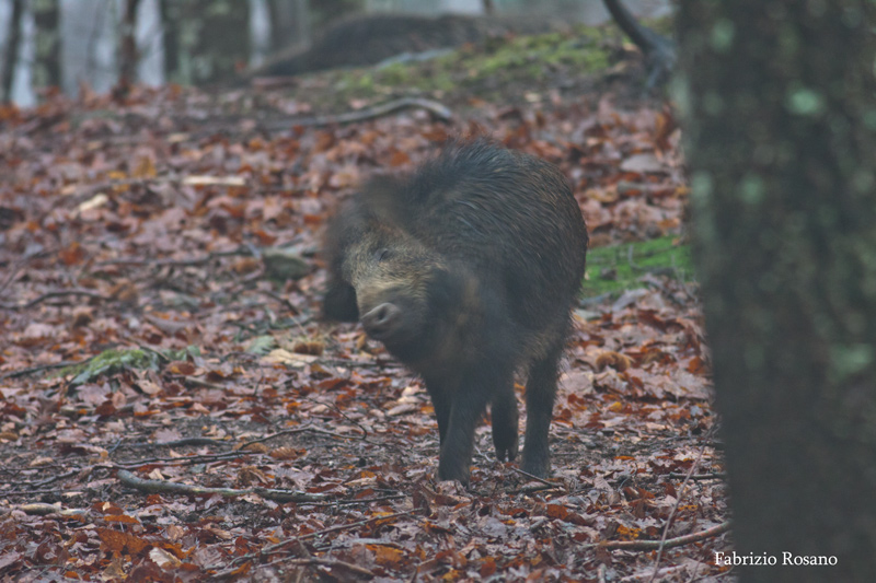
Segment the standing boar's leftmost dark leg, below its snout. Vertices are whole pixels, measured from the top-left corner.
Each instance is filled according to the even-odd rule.
[[[450,406],[450,424],[441,445],[441,457],[438,462],[438,477],[442,480],[457,480],[469,483],[472,451],[474,450],[474,429],[484,415],[486,406],[493,397],[510,386],[512,380],[510,366],[487,366],[468,371],[462,375],[460,386],[454,390]]]

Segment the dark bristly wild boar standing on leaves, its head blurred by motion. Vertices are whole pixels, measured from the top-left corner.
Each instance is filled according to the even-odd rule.
[[[586,247],[560,171],[483,139],[452,142],[413,174],[372,180],[333,220],[325,314],[364,318],[423,375],[441,478],[468,480],[488,403],[499,456],[516,455],[519,368],[529,371],[523,468],[548,474],[557,361]]]

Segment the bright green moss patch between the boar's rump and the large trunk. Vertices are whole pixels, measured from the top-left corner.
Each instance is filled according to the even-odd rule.
[[[667,236],[590,249],[581,295],[589,298],[637,288],[647,273],[692,280],[690,248]]]

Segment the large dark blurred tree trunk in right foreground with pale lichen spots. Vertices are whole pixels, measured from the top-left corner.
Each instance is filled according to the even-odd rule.
[[[680,3],[734,538],[779,563],[740,581],[876,573],[875,22],[867,0]]]

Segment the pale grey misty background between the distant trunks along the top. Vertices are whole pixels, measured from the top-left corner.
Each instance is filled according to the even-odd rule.
[[[119,42],[125,0],[0,0],[0,47],[3,58],[0,67],[8,65],[10,31],[13,7],[21,2],[18,51],[14,55],[14,72],[10,97],[20,106],[32,106],[38,102],[41,89],[59,85],[67,95],[74,96],[80,85],[104,93],[119,78]],[[241,7],[245,4],[245,7]],[[162,8],[174,12],[177,21],[192,20],[198,14],[221,7],[229,10],[245,10],[247,35],[235,39],[249,44],[249,66],[257,66],[273,53],[289,46],[307,47],[314,34],[338,18],[351,13],[404,13],[439,15],[447,13],[483,14],[485,4],[492,4],[497,16],[538,14],[566,23],[599,24],[609,19],[601,0],[333,0],[308,2],[307,0],[140,0],[136,9],[137,83],[161,85],[169,81],[165,70],[164,33],[174,14],[162,19]],[[665,15],[671,8],[668,0],[627,0],[633,13],[644,18]],[[36,10],[54,13],[48,26],[37,34]],[[204,7],[201,9],[201,7]],[[185,16],[180,16],[185,14]],[[194,16],[193,16],[194,14]],[[281,16],[284,26],[273,26],[272,19]],[[171,19],[170,21],[168,19]],[[44,18],[45,19],[45,18]],[[184,26],[186,23],[180,23]],[[189,26],[192,28],[196,23]],[[55,28],[53,32],[51,28]],[[221,32],[217,32],[221,34]],[[50,35],[53,38],[46,39]],[[183,34],[185,37],[185,33]],[[58,63],[55,67],[56,82],[35,67],[37,47],[42,43],[57,43]],[[195,60],[193,59],[193,62]],[[51,68],[51,67],[49,67]],[[185,68],[177,71],[176,82],[186,79]]]

